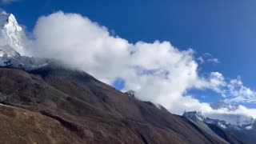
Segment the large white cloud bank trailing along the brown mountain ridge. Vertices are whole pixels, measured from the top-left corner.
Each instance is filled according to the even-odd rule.
[[[255,92],[238,79],[226,81],[218,72],[200,77],[194,50],[178,50],[170,42],[130,43],[111,36],[106,27],[89,18],[60,11],[38,19],[34,39],[27,47],[30,47],[27,55],[58,58],[110,85],[122,79],[123,90],[134,90],[139,99],[160,103],[174,114],[200,110],[208,114],[246,114],[256,118],[254,109],[245,106],[238,106],[236,110],[213,109],[209,103],[199,102],[187,94],[191,89],[207,89],[222,94],[226,101],[255,99]]]

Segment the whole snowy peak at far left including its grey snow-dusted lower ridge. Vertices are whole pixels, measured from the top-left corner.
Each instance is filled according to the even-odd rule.
[[[14,67],[34,70],[48,66],[47,58],[28,58],[24,53],[23,42],[26,39],[22,27],[18,25],[14,14],[8,14],[0,8],[0,67]]]

